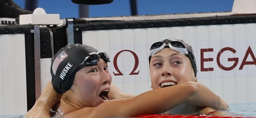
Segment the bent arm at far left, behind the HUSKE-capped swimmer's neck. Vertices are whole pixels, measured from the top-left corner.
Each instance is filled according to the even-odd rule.
[[[55,103],[60,102],[61,94],[58,94],[51,83],[47,83],[41,96],[35,102],[34,106],[25,117],[51,117],[50,109]]]

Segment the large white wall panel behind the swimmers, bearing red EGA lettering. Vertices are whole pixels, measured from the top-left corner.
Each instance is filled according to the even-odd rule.
[[[112,62],[112,81],[123,92],[140,94],[150,90],[150,76],[148,69],[148,50],[152,43],[166,38],[183,39],[194,48],[198,65],[198,82],[209,87],[221,96],[228,104],[256,102],[256,24],[233,24],[213,26],[184,26],[172,28],[146,28],[128,30],[98,30],[83,31],[83,43],[91,45],[101,52],[108,52]],[[234,62],[228,58],[238,58],[237,66],[226,71],[219,68],[217,54],[223,48],[230,47],[235,53],[224,51],[221,64],[230,67]],[[251,47],[251,52],[245,52]],[[213,51],[203,52],[203,49]],[[117,70],[113,66],[114,56],[121,50],[131,50],[139,57],[139,66],[129,75],[135,66],[135,58],[130,52],[122,52],[117,58],[117,66],[123,75],[114,75]],[[202,58],[213,58],[213,61],[203,62]],[[245,64],[239,69],[242,61]],[[203,65],[201,65],[203,64]],[[213,68],[213,71],[202,71],[203,68]]]

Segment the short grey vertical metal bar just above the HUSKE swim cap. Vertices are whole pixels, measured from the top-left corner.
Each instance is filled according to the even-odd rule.
[[[67,20],[67,35],[68,35],[68,44],[73,43],[74,44],[74,19],[68,18]]]

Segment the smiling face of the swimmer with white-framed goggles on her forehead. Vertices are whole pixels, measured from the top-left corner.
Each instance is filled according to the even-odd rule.
[[[165,48],[152,56],[150,77],[153,89],[196,81],[188,57],[170,48]]]

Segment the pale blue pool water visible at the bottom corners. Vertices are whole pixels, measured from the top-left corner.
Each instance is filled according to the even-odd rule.
[[[256,118],[256,103],[229,104],[229,107],[230,110],[225,112],[225,116]],[[0,118],[24,118],[24,115],[0,115]]]

